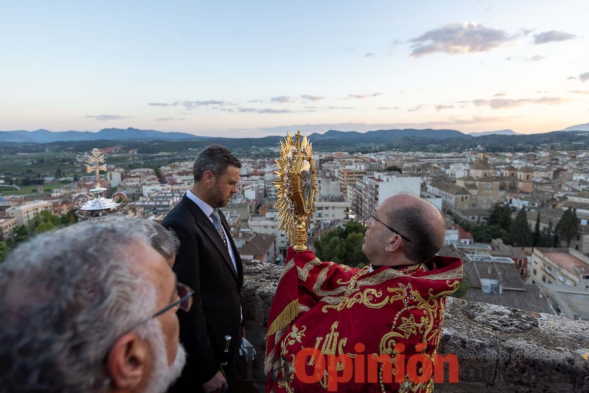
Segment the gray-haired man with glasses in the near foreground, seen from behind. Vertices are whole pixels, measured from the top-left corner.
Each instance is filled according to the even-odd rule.
[[[178,285],[140,220],[80,223],[0,265],[0,392],[163,393],[186,360]]]

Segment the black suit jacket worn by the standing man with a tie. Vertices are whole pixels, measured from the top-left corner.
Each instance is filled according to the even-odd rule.
[[[170,391],[198,391],[201,384],[213,378],[220,370],[220,362],[230,360],[223,352],[224,336],[231,336],[229,354],[237,353],[243,265],[227,221],[222,213],[219,215],[233,249],[237,272],[213,223],[186,195],[162,223],[180,239],[173,268],[178,282],[194,289],[190,311],[178,312],[180,342],[188,358],[180,379]]]

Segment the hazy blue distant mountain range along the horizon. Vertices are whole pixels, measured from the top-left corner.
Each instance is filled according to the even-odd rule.
[[[294,130],[293,130],[294,131]],[[589,123],[578,126],[568,127],[562,131],[589,131]],[[481,133],[464,134],[456,130],[415,130],[405,128],[403,130],[376,130],[359,133],[357,131],[337,131],[329,130],[324,134],[313,133],[309,137],[315,144],[371,144],[371,143],[389,143],[392,140],[417,137],[428,139],[449,139],[460,138],[470,139],[473,137],[482,137],[489,135],[502,136],[520,136],[512,130],[485,131]],[[279,140],[282,136],[268,136],[263,138],[246,138],[248,140]],[[104,128],[97,133],[90,131],[62,131],[54,132],[48,130],[37,131],[0,131],[0,143],[51,143],[61,141],[92,141],[92,140],[164,140],[164,141],[182,141],[182,140],[229,140],[233,138],[219,138],[209,136],[196,136],[188,133],[166,133],[155,130],[138,130],[137,128]]]

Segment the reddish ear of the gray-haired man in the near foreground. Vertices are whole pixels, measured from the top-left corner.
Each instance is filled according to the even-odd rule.
[[[112,346],[107,358],[107,371],[115,389],[131,390],[137,387],[145,372],[149,355],[147,342],[136,333],[121,336]]]

